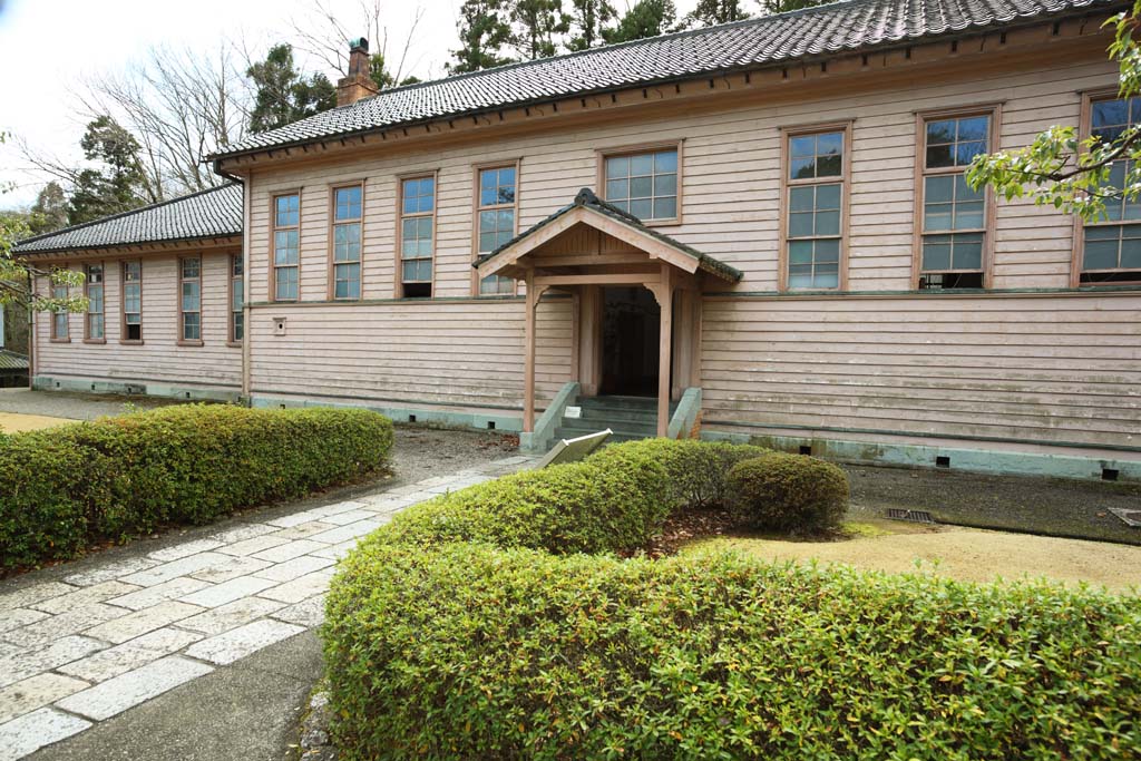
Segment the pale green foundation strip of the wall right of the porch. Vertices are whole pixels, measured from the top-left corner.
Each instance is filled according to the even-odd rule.
[[[1079,478],[1102,480],[1104,470],[1116,470],[1118,481],[1141,483],[1141,462],[1112,458],[1081,458],[1031,452],[1004,452],[964,447],[926,446],[922,444],[873,444],[848,442],[822,436],[775,436],[702,430],[702,438],[755,444],[779,452],[799,453],[811,447],[815,458],[869,465],[899,468],[947,468],[979,473],[1049,476],[1051,478]],[[946,464],[939,465],[940,458]]]

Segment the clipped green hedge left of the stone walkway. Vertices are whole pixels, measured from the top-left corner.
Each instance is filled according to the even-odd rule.
[[[364,410],[186,405],[16,434],[0,443],[0,567],[346,483],[391,446]]]

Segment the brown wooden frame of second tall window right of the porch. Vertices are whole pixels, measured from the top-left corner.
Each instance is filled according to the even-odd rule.
[[[941,119],[969,119],[971,116],[988,116],[990,126],[987,133],[987,151],[993,153],[1001,149],[1002,137],[1002,104],[974,104],[969,106],[955,106],[950,108],[934,108],[915,112],[915,176],[914,176],[914,199],[915,208],[912,218],[912,290],[920,291],[920,281],[923,277],[923,214],[926,193],[926,178],[944,175],[961,175],[965,171],[961,167],[939,167],[937,169],[926,168],[926,123]],[[982,289],[993,288],[994,273],[994,242],[995,242],[995,197],[994,189],[988,185],[982,192],[982,228],[946,230],[938,234],[957,233],[981,233],[982,234]],[[954,292],[973,289],[923,289],[924,293]]]

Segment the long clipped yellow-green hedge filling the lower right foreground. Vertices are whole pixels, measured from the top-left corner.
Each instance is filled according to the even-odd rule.
[[[1141,606],[1045,584],[379,542],[325,655],[345,759],[1116,759]]]

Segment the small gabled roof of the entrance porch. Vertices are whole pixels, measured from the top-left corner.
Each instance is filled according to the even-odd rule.
[[[574,219],[566,219],[572,214]],[[494,251],[479,257],[472,266],[480,277],[494,275],[565,232],[566,222],[572,225],[581,222],[601,229],[646,251],[650,258],[667,261],[689,273],[701,269],[730,283],[736,283],[744,276],[736,267],[702,253],[653,227],[647,227],[633,214],[602,201],[586,187],[578,191],[568,205],[516,235]]]

